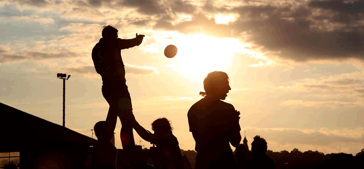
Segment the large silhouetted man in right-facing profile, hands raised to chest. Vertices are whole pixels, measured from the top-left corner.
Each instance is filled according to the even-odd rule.
[[[231,90],[225,72],[211,72],[203,81],[206,96],[187,113],[190,132],[196,142],[195,169],[236,169],[237,163],[229,142],[241,141],[239,112],[223,102]]]

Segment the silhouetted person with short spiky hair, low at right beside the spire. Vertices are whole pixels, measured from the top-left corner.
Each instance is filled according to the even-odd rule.
[[[253,157],[247,161],[248,169],[264,168],[274,169],[274,160],[267,154],[267,142],[260,136],[255,136],[252,142]]]

